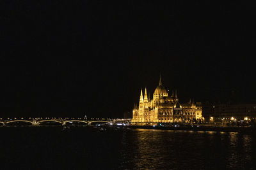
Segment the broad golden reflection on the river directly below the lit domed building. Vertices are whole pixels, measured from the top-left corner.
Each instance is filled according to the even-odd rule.
[[[196,160],[195,157],[200,156],[200,145],[204,145],[204,141],[196,140],[196,144],[191,142],[194,134],[198,134],[201,138],[204,131],[173,131],[173,130],[150,130],[138,129],[135,169],[166,169],[166,165],[172,164],[172,168],[180,168],[180,164],[186,167],[188,161],[203,163],[203,160]],[[191,138],[189,137],[190,135]],[[198,138],[198,137],[196,137]],[[195,139],[196,139],[195,138]],[[182,144],[183,143],[183,144]],[[186,145],[184,145],[186,143]],[[200,148],[202,149],[202,148]],[[188,152],[192,150],[192,152]],[[181,155],[186,155],[191,160],[180,159]],[[168,163],[166,163],[168,162]],[[179,164],[177,164],[179,162]],[[193,166],[198,166],[195,164]],[[193,168],[189,166],[189,168]]]

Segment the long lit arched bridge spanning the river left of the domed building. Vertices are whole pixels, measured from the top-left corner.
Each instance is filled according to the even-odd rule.
[[[55,122],[61,125],[66,124],[74,124],[76,122],[79,122],[84,125],[91,125],[93,123],[104,123],[104,124],[114,124],[115,120],[111,118],[90,118],[90,119],[82,119],[82,118],[8,118],[6,120],[3,120],[0,118],[0,124],[3,126],[11,125],[13,122],[25,122],[30,125],[40,125],[43,122]]]

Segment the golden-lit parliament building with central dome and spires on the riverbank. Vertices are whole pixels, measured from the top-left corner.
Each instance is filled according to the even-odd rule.
[[[161,77],[153,99],[150,100],[147,96],[147,89],[144,97],[141,90],[140,103],[138,106],[134,104],[132,110],[132,124],[190,123],[202,120],[202,103],[179,103],[177,91],[175,94],[173,91],[171,95],[168,94],[162,85]]]

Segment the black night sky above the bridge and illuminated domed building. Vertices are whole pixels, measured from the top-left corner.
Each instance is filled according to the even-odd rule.
[[[1,1],[0,114],[122,117],[160,73],[181,102],[255,102],[254,7]]]

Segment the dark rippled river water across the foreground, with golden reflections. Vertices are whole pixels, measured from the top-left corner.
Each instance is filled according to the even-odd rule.
[[[1,127],[3,169],[256,169],[255,136],[238,132]]]

